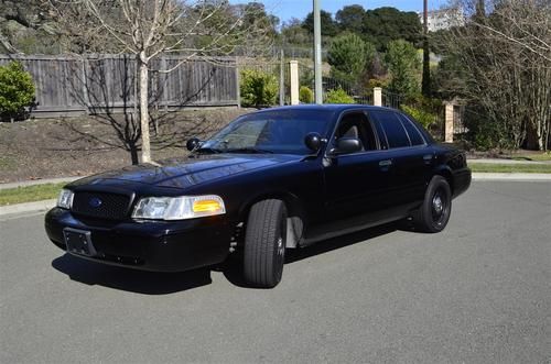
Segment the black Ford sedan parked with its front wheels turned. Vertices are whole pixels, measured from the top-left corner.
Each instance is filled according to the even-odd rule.
[[[239,254],[249,284],[274,287],[287,249],[401,219],[442,231],[471,184],[464,153],[386,108],[267,109],[187,147],[68,184],[47,235],[75,256],[149,271]]]

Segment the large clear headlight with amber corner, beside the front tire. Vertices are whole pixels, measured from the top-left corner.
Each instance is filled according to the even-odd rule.
[[[219,196],[145,197],[132,212],[134,219],[185,220],[226,213]]]

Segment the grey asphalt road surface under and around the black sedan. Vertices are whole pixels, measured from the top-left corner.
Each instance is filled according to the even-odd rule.
[[[0,362],[551,363],[551,183],[475,183],[452,213],[301,251],[271,290],[82,262],[42,216],[0,221]]]

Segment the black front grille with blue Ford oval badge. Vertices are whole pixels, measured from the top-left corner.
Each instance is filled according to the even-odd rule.
[[[109,192],[75,192],[71,210],[91,218],[121,220],[128,216],[131,199]]]

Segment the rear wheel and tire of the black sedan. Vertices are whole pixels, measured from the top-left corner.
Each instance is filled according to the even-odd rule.
[[[432,177],[424,192],[423,205],[413,218],[415,228],[428,233],[444,230],[452,213],[452,190],[442,176]]]

